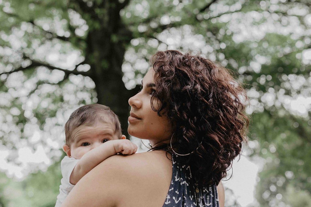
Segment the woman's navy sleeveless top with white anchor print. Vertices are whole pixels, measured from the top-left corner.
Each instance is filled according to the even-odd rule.
[[[163,207],[219,207],[216,185],[197,188],[190,166],[180,166],[174,153],[172,160],[172,181]]]

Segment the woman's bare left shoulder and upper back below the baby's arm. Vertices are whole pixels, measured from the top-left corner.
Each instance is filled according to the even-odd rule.
[[[87,173],[67,196],[64,206],[163,205],[172,176],[165,152],[115,155]],[[154,181],[157,182],[154,182]],[[68,201],[68,202],[67,202]]]

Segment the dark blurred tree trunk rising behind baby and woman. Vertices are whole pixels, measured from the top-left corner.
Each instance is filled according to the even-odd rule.
[[[137,92],[137,87],[134,90],[125,88],[122,64],[132,32],[122,24],[117,7],[105,4],[105,10],[108,12],[100,28],[93,28],[88,33],[85,61],[91,65],[91,78],[95,82],[98,103],[109,106],[118,115],[122,133],[129,138],[128,99]]]

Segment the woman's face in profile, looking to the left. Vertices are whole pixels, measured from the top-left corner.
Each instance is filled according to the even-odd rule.
[[[134,137],[149,139],[152,146],[169,140],[172,133],[167,117],[165,115],[160,117],[151,109],[151,96],[156,90],[153,76],[154,71],[151,68],[142,80],[142,90],[128,100],[131,106],[128,133]]]

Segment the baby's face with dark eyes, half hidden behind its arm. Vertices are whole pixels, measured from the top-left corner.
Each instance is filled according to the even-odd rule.
[[[71,157],[81,159],[88,151],[109,140],[119,139],[113,124],[81,125],[72,131]]]

